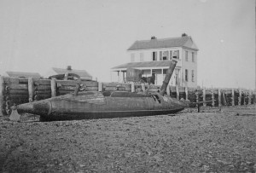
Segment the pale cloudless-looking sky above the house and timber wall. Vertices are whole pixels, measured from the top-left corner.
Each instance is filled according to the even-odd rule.
[[[136,40],[183,32],[198,85],[254,89],[254,0],[0,0],[0,73],[71,65],[109,82]]]

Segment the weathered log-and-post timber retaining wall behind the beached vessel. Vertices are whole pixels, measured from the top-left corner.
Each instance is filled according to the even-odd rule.
[[[10,107],[29,101],[39,101],[58,95],[73,92],[78,81],[34,78],[0,78],[0,116],[9,114]],[[96,81],[81,81],[84,90],[98,91],[128,91],[159,92],[159,85],[101,83]],[[255,103],[255,93],[249,89],[195,89],[168,86],[166,94],[172,98],[188,99],[189,101],[211,101],[203,106],[235,106]],[[212,101],[214,100],[214,101]]]

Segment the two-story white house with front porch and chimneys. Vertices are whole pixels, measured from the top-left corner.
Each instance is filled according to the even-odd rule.
[[[172,74],[172,86],[197,86],[197,51],[192,37],[161,38],[151,37],[150,40],[136,41],[127,49],[131,62],[111,69],[112,82],[123,82],[129,67],[143,71],[143,77],[154,74],[154,84],[162,84],[171,60],[177,61]]]

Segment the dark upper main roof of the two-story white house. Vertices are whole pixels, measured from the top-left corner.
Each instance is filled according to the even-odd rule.
[[[161,39],[150,39],[136,41],[127,50],[137,50],[137,49],[158,49],[158,48],[172,48],[172,47],[184,47],[198,50],[197,46],[193,42],[190,36],[183,37],[170,37]]]

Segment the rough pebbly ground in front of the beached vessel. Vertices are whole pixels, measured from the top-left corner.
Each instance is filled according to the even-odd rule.
[[[0,117],[0,172],[255,170],[255,105],[79,121]]]

